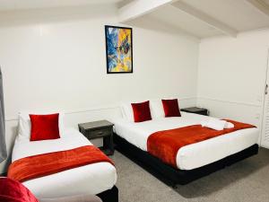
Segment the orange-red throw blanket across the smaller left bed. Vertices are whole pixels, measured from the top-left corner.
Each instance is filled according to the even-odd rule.
[[[114,165],[99,148],[85,145],[71,150],[33,155],[16,160],[10,165],[7,176],[23,182],[94,162],[110,162]]]

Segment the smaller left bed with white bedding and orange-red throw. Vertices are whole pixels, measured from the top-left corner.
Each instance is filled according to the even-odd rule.
[[[73,128],[53,140],[17,136],[12,161],[8,177],[21,181],[38,198],[117,192],[113,162]]]

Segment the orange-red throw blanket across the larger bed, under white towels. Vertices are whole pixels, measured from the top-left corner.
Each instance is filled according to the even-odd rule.
[[[255,127],[233,120],[227,121],[233,123],[234,127],[218,131],[208,127],[202,127],[201,125],[194,125],[153,133],[148,137],[147,150],[150,154],[161,159],[162,162],[166,162],[174,168],[178,168],[177,154],[178,149],[181,147],[202,142],[215,136],[222,136],[240,129]]]

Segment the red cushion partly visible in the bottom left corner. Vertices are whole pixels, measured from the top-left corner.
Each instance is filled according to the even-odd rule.
[[[1,202],[39,202],[19,181],[0,178]]]

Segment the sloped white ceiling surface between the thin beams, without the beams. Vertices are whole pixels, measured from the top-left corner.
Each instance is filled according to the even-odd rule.
[[[253,31],[269,28],[269,15],[262,13],[246,0],[181,0],[201,13],[221,22],[234,31]],[[269,0],[264,0],[269,5]],[[151,18],[185,30],[198,38],[223,34],[214,26],[178,9],[174,4],[164,5],[152,13]]]

